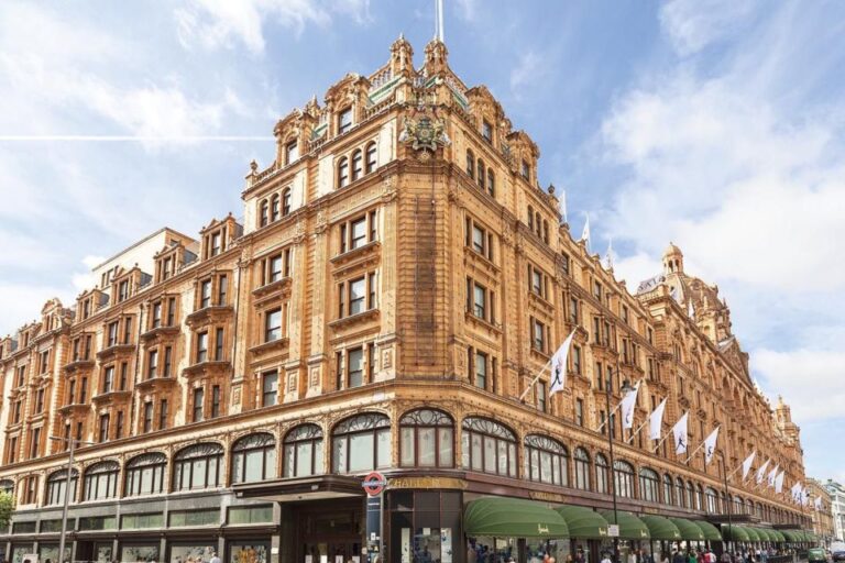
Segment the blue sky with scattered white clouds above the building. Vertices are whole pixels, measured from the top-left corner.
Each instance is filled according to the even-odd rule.
[[[845,482],[845,3],[445,0],[450,66],[540,146],[592,246],[636,289],[673,241],[717,284],[753,376]],[[242,214],[273,125],[434,0],[0,2],[0,334],[74,302],[167,225]]]

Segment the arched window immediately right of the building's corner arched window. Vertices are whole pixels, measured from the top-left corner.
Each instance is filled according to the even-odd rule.
[[[492,420],[469,417],[461,424],[464,468],[516,477],[516,437]]]

